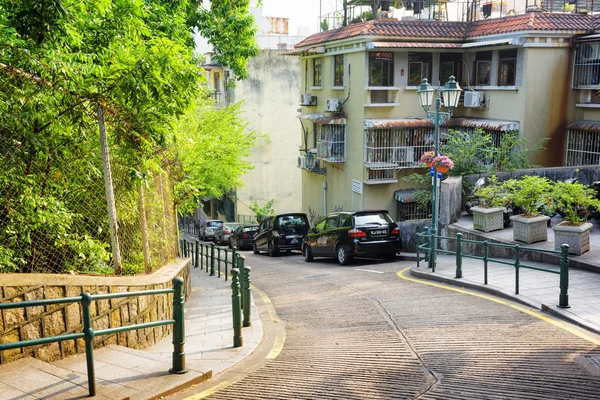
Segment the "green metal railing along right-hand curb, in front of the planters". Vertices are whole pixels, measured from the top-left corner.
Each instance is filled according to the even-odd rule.
[[[421,239],[424,238],[425,243],[421,243]],[[442,250],[439,246],[431,246],[434,243],[434,240],[448,240],[450,242],[454,241],[456,244],[456,251]],[[476,245],[483,246],[483,255],[474,255],[469,254],[463,251],[463,244],[471,243]],[[505,248],[512,249],[514,251],[513,260],[510,259],[500,259],[500,258],[492,258],[489,257],[491,248]],[[551,274],[560,275],[560,283],[559,283],[559,296],[558,296],[558,307],[560,308],[569,308],[569,245],[563,244],[560,246],[561,250],[544,250],[544,249],[536,249],[533,247],[523,247],[520,245],[508,245],[501,243],[490,243],[488,241],[478,241],[478,240],[468,240],[462,238],[462,233],[457,233],[456,237],[448,237],[448,236],[437,236],[431,235],[429,228],[425,227],[422,233],[417,233],[417,268],[420,267],[420,251],[423,250],[425,254],[425,259],[429,259],[429,257],[435,256],[436,253],[450,254],[456,255],[456,272],[455,278],[460,279],[463,277],[462,274],[462,259],[463,258],[472,258],[475,260],[483,261],[483,283],[484,285],[488,284],[488,263],[494,262],[498,264],[510,265],[515,268],[515,294],[519,294],[519,270],[521,268],[531,269],[535,271],[548,272]],[[533,265],[523,264],[521,262],[521,255],[523,252],[534,252],[534,253],[546,253],[546,254],[555,254],[560,256],[560,270],[552,270],[547,268],[540,268]],[[432,266],[431,272],[435,272],[435,264]]]

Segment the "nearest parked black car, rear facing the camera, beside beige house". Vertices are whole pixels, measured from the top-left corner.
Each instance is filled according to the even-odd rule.
[[[341,265],[350,264],[354,257],[393,260],[400,250],[400,230],[387,210],[327,214],[302,243],[307,262],[313,257],[336,257]]]

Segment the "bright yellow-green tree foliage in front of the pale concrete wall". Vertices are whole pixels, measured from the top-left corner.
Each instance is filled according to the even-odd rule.
[[[179,122],[175,135],[178,169],[175,204],[185,215],[204,196],[221,197],[243,186],[240,177],[252,169],[250,156],[258,134],[241,118],[242,103],[215,108],[209,100],[197,102]]]

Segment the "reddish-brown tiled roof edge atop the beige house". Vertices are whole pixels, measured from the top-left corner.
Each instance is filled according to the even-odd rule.
[[[316,33],[296,44],[295,48],[314,46],[357,36],[460,41],[524,31],[572,31],[580,34],[591,32],[596,27],[600,27],[600,17],[597,16],[540,12],[529,12],[475,22],[371,20]]]

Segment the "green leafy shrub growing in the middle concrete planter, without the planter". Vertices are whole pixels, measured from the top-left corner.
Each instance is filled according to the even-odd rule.
[[[517,207],[525,211],[525,215],[535,216],[539,210],[547,208],[551,201],[554,183],[539,176],[524,176],[521,179],[509,179],[504,182],[507,197]]]

